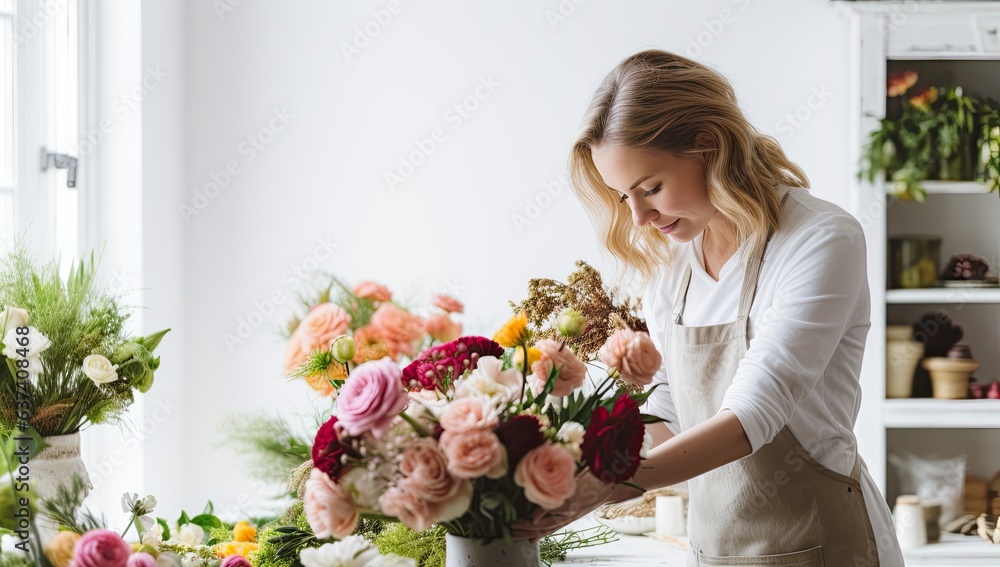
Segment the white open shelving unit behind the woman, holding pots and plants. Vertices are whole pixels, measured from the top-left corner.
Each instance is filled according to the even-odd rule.
[[[890,70],[915,69],[927,86],[973,83],[1000,100],[1000,2],[838,2],[851,18],[854,72],[851,163],[857,170],[864,143],[886,115]],[[1000,288],[886,290],[888,239],[902,234],[936,234],[943,239],[941,262],[972,253],[997,268],[1000,260],[1000,199],[983,183],[930,181],[925,203],[887,196],[879,181],[856,181],[852,213],[865,229],[872,326],[862,368],[864,400],[856,431],[872,476],[892,502],[896,475],[887,470],[894,452],[925,456],[967,455],[970,474],[987,480],[1000,470],[1000,400],[886,399],[885,330],[942,309],[965,330],[982,367],[981,382],[1000,377]],[[943,267],[943,266],[942,266]],[[946,534],[940,544],[905,553],[906,564],[926,567],[1000,566],[1000,545],[977,537]]]

